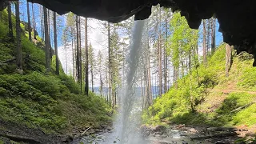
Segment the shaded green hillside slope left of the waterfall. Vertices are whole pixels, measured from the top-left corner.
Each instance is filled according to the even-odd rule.
[[[26,138],[34,140],[30,143],[53,143],[58,135],[74,137],[88,127],[109,124],[106,102],[92,93],[79,94],[78,84],[62,68],[55,75],[54,58],[52,73],[45,74],[44,50],[26,38],[22,24],[24,74],[16,72],[15,62],[6,62],[15,57],[15,38],[8,36],[6,10],[0,13],[0,143]]]

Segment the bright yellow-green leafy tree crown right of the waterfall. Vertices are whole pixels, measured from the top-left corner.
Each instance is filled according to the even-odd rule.
[[[179,12],[175,12],[170,21],[170,38],[168,39],[167,53],[171,55],[171,62],[178,68],[183,58],[194,54],[198,45],[198,30],[192,30]],[[183,69],[183,68],[182,68]]]

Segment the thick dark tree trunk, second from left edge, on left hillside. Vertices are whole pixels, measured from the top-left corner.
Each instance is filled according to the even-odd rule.
[[[21,27],[19,17],[19,2],[15,2],[15,13],[16,13],[16,41],[17,41],[17,58],[16,65],[17,69],[22,73],[22,40],[21,40]]]

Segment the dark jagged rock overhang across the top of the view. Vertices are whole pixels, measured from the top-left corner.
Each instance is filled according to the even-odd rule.
[[[256,54],[256,1],[254,0],[28,0],[40,3],[58,14],[69,11],[88,18],[121,22],[135,14],[135,20],[146,19],[157,5],[180,10],[193,29],[202,19],[218,18],[224,42],[240,53]],[[6,0],[0,0],[0,7]],[[256,66],[256,62],[254,63]]]

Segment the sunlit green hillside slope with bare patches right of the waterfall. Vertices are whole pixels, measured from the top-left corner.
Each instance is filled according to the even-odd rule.
[[[148,124],[245,126],[256,132],[256,68],[252,56],[233,53],[230,75],[225,75],[225,44],[191,74],[157,98],[143,114]],[[194,110],[193,110],[194,108]]]

